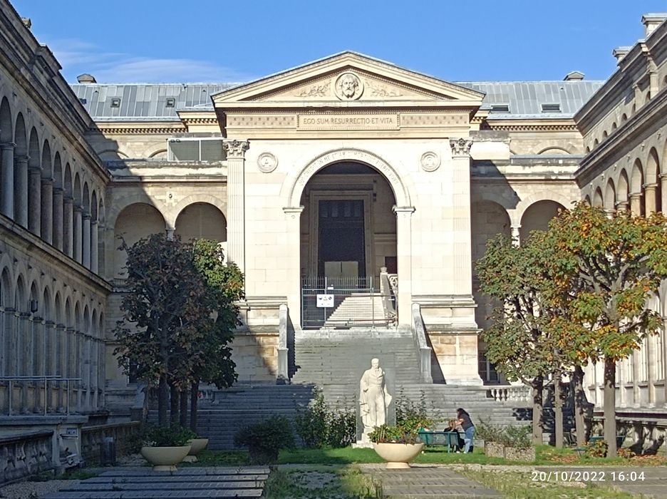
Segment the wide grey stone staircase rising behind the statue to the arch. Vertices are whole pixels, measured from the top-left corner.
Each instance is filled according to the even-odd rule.
[[[475,423],[482,418],[497,425],[529,423],[525,402],[495,401],[487,398],[481,386],[420,383],[410,329],[298,331],[293,349],[296,372],[291,384],[237,385],[215,391],[212,400],[200,403],[198,431],[210,438],[209,448],[234,448],[234,433],[239,428],[272,414],[293,418],[312,400],[314,386],[321,387],[332,406],[356,410],[359,379],[373,357],[380,359],[395,401],[423,404],[430,416],[446,421],[455,416],[457,407],[463,407]]]

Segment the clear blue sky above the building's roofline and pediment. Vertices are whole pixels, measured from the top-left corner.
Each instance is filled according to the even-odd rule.
[[[242,82],[345,50],[449,81],[604,79],[664,1],[14,0],[68,81]]]

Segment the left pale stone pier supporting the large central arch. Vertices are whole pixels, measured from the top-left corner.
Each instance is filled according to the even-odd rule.
[[[287,312],[294,326],[301,326],[301,213],[303,206],[284,207],[285,214],[285,256],[289,292],[287,294]]]

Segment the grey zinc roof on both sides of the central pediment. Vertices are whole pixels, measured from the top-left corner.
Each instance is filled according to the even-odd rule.
[[[482,108],[509,106],[495,118],[569,118],[604,81],[465,81],[456,85],[486,94]],[[212,110],[210,96],[237,83],[76,84],[72,90],[95,121],[173,121],[177,110]],[[120,98],[120,103],[118,103]],[[174,106],[167,106],[167,98]],[[118,103],[119,106],[113,106]],[[559,112],[543,112],[559,104]]]

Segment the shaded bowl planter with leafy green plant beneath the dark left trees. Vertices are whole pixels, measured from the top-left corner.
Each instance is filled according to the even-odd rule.
[[[145,432],[141,455],[155,471],[174,471],[187,453],[192,432],[182,426],[153,426]]]

